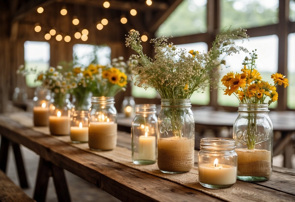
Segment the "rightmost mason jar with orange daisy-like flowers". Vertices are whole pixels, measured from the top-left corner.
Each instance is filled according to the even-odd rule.
[[[276,85],[287,87],[288,79],[272,74],[274,84],[263,81],[256,70],[256,49],[245,57],[241,73],[229,72],[222,78],[225,95],[240,100],[239,115],[233,125],[236,140],[237,178],[244,181],[268,180],[273,165],[273,126],[268,117],[268,105],[278,100]]]

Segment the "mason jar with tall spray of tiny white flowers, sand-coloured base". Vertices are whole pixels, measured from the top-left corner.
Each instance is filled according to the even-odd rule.
[[[129,32],[126,46],[138,55],[131,56],[131,69],[135,72],[135,85],[154,88],[160,94],[161,111],[158,116],[158,167],[164,173],[184,173],[194,165],[194,115],[190,97],[194,91],[203,92],[214,85],[214,68],[223,60],[218,57],[245,50],[237,47],[233,39],[248,38],[244,29],[228,29],[217,35],[208,52],[199,53],[168,42],[167,37],[151,39],[155,58],[142,52],[137,31]]]

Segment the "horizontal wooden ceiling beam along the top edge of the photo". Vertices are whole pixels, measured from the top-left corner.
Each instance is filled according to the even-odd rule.
[[[135,1],[119,1],[119,0],[108,0],[110,7],[107,9],[120,10],[120,11],[130,11],[130,9],[136,9],[137,11],[149,10],[166,10],[168,9],[168,4],[165,2],[153,1],[153,4],[148,6],[145,3],[139,3]],[[95,6],[98,8],[104,8],[103,4],[105,0],[63,0],[63,3],[67,4],[80,4]]]

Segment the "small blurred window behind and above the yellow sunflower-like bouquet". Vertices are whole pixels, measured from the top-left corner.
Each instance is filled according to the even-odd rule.
[[[73,46],[74,66],[89,66],[95,64],[111,64],[111,48],[91,44],[75,44]]]

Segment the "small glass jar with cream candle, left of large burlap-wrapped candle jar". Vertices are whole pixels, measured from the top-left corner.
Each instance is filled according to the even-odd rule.
[[[88,113],[89,111],[79,110],[71,113],[70,138],[72,143],[88,142]]]

